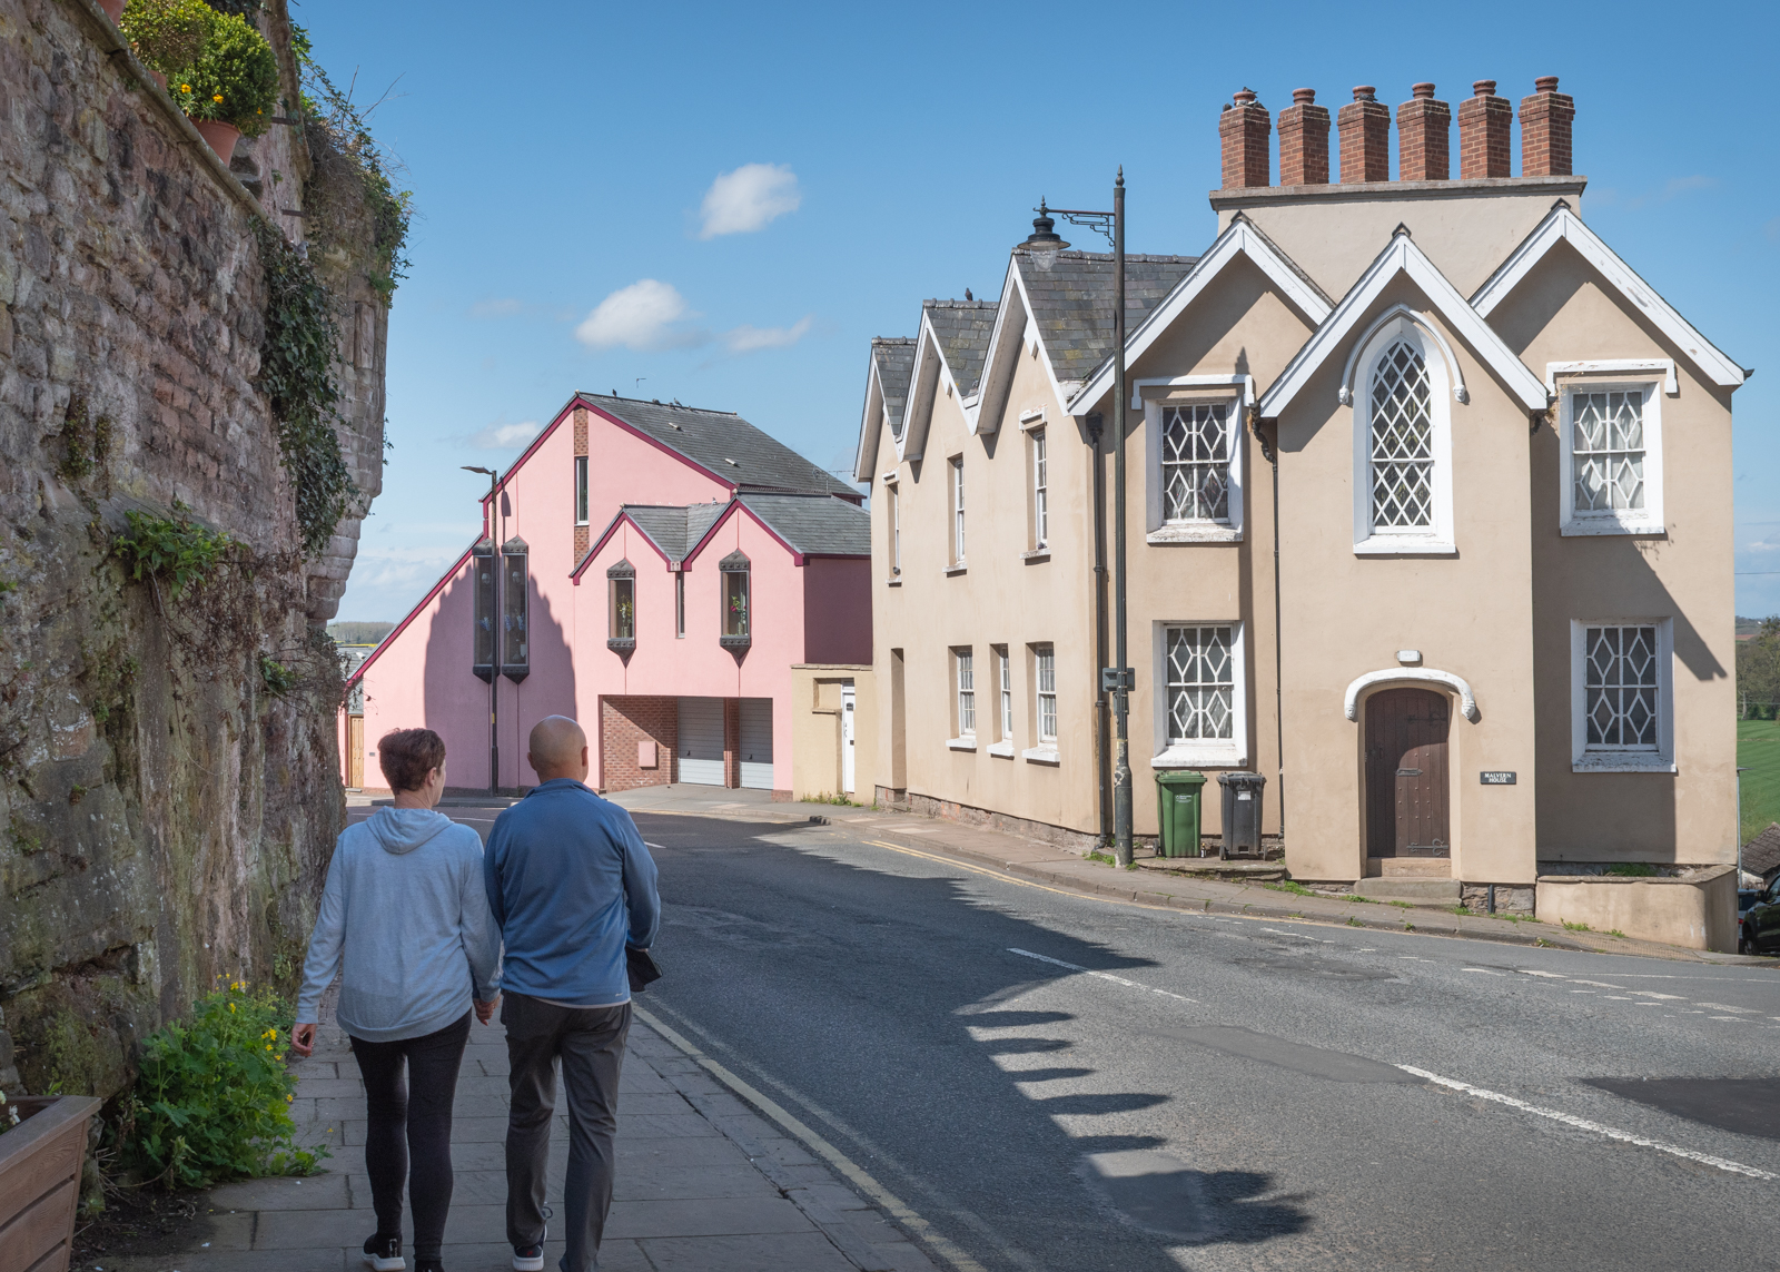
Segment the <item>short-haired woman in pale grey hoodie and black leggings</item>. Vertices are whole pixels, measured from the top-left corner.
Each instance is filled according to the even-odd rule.
[[[481,836],[434,811],[445,743],[431,729],[400,729],[377,743],[377,764],[395,807],[347,827],[335,846],[290,1042],[297,1055],[313,1051],[322,991],[338,973],[340,1028],[365,1080],[365,1174],[377,1211],[365,1263],[406,1267],[406,1183],[415,1268],[440,1272],[457,1067],[472,1007],[488,1024],[500,1001],[500,930],[482,887]]]

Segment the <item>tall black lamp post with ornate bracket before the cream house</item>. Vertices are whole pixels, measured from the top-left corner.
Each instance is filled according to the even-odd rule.
[[[1100,693],[1112,695],[1112,839],[1114,859],[1130,866],[1130,691],[1137,675],[1127,665],[1125,625],[1125,166],[1112,183],[1112,210],[1034,208],[1032,233],[1022,244],[1040,269],[1057,264],[1068,248],[1056,232],[1052,214],[1070,224],[1089,226],[1112,244],[1112,661],[1100,668]]]

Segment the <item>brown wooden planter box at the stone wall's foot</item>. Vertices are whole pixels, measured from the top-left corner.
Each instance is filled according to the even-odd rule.
[[[66,1272],[80,1203],[91,1096],[18,1096],[0,1135],[0,1272]]]

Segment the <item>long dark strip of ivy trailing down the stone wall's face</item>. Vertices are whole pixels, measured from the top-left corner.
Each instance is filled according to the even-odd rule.
[[[320,556],[335,526],[358,499],[358,486],[335,433],[335,353],[340,326],[328,285],[306,253],[285,235],[255,221],[265,271],[265,338],[260,344],[260,388],[278,420],[278,449],[297,497],[303,550]]]

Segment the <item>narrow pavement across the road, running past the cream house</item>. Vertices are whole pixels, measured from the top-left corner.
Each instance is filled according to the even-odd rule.
[[[632,812],[668,812],[783,825],[808,825],[813,818],[856,834],[862,839],[879,839],[897,848],[986,866],[1016,878],[1066,887],[1077,893],[1114,896],[1141,905],[1207,910],[1212,914],[1244,914],[1266,919],[1308,919],[1314,923],[1339,923],[1390,932],[1413,930],[1472,941],[1552,946],[1591,953],[1775,966],[1771,958],[1703,953],[1655,941],[1609,937],[1598,932],[1570,932],[1563,925],[1538,923],[1534,919],[1513,921],[1483,914],[1454,914],[1451,909],[1431,905],[1342,900],[1308,893],[1308,889],[1292,891],[1294,884],[1196,878],[1168,871],[1155,857],[1139,862],[1136,869],[1125,871],[1089,860],[1068,848],[1057,848],[1004,830],[970,827],[890,809],[831,803],[774,803],[765,791],[724,791],[710,786],[651,786],[637,791],[623,791],[612,798]]]

